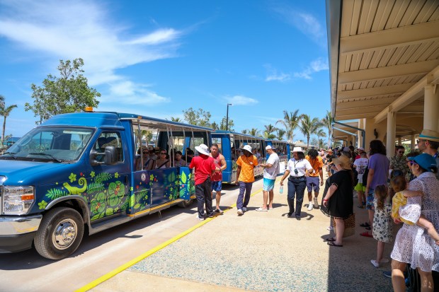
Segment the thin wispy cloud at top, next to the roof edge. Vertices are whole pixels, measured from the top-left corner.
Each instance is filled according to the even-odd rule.
[[[311,38],[321,47],[326,47],[326,25],[322,26],[319,20],[312,16],[312,14],[296,11],[289,6],[276,6],[273,7],[273,11],[278,13],[278,16],[285,23],[300,30],[305,36]]]

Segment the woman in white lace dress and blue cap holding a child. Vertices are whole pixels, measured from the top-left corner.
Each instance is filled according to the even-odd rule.
[[[437,171],[433,156],[423,153],[410,158],[412,180],[409,190],[423,192],[423,197],[409,197],[407,204],[399,208],[399,216],[406,221],[398,231],[392,250],[392,285],[394,291],[406,291],[403,272],[407,264],[417,269],[421,276],[421,291],[433,291],[431,271],[439,271],[439,246],[426,230],[417,226],[419,216],[424,216],[439,230],[439,180],[435,177]]]

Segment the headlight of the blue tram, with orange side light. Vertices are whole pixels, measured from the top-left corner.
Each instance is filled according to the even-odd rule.
[[[30,186],[4,186],[3,187],[3,214],[27,214],[33,202],[35,192]]]

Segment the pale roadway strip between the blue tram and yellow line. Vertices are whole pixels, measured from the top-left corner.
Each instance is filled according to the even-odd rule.
[[[222,205],[233,204],[235,193],[236,187],[225,186]],[[200,223],[196,204],[192,207],[173,206],[161,211],[161,218],[152,214],[86,236],[74,255],[61,261],[40,257],[35,250],[0,254],[0,291],[75,291]]]

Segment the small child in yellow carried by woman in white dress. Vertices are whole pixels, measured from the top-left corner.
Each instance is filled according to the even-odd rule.
[[[401,175],[393,177],[390,181],[390,185],[392,185],[392,189],[394,189],[394,192],[396,192],[392,199],[392,218],[394,218],[395,223],[402,221],[406,224],[413,225],[413,223],[410,221],[406,221],[404,218],[399,216],[399,207],[407,204],[407,197],[422,196],[422,192],[406,190],[407,182],[406,179]],[[436,245],[439,245],[439,234],[436,232],[433,223],[421,215],[418,222],[416,222],[416,225],[426,228],[428,235],[433,238]]]

